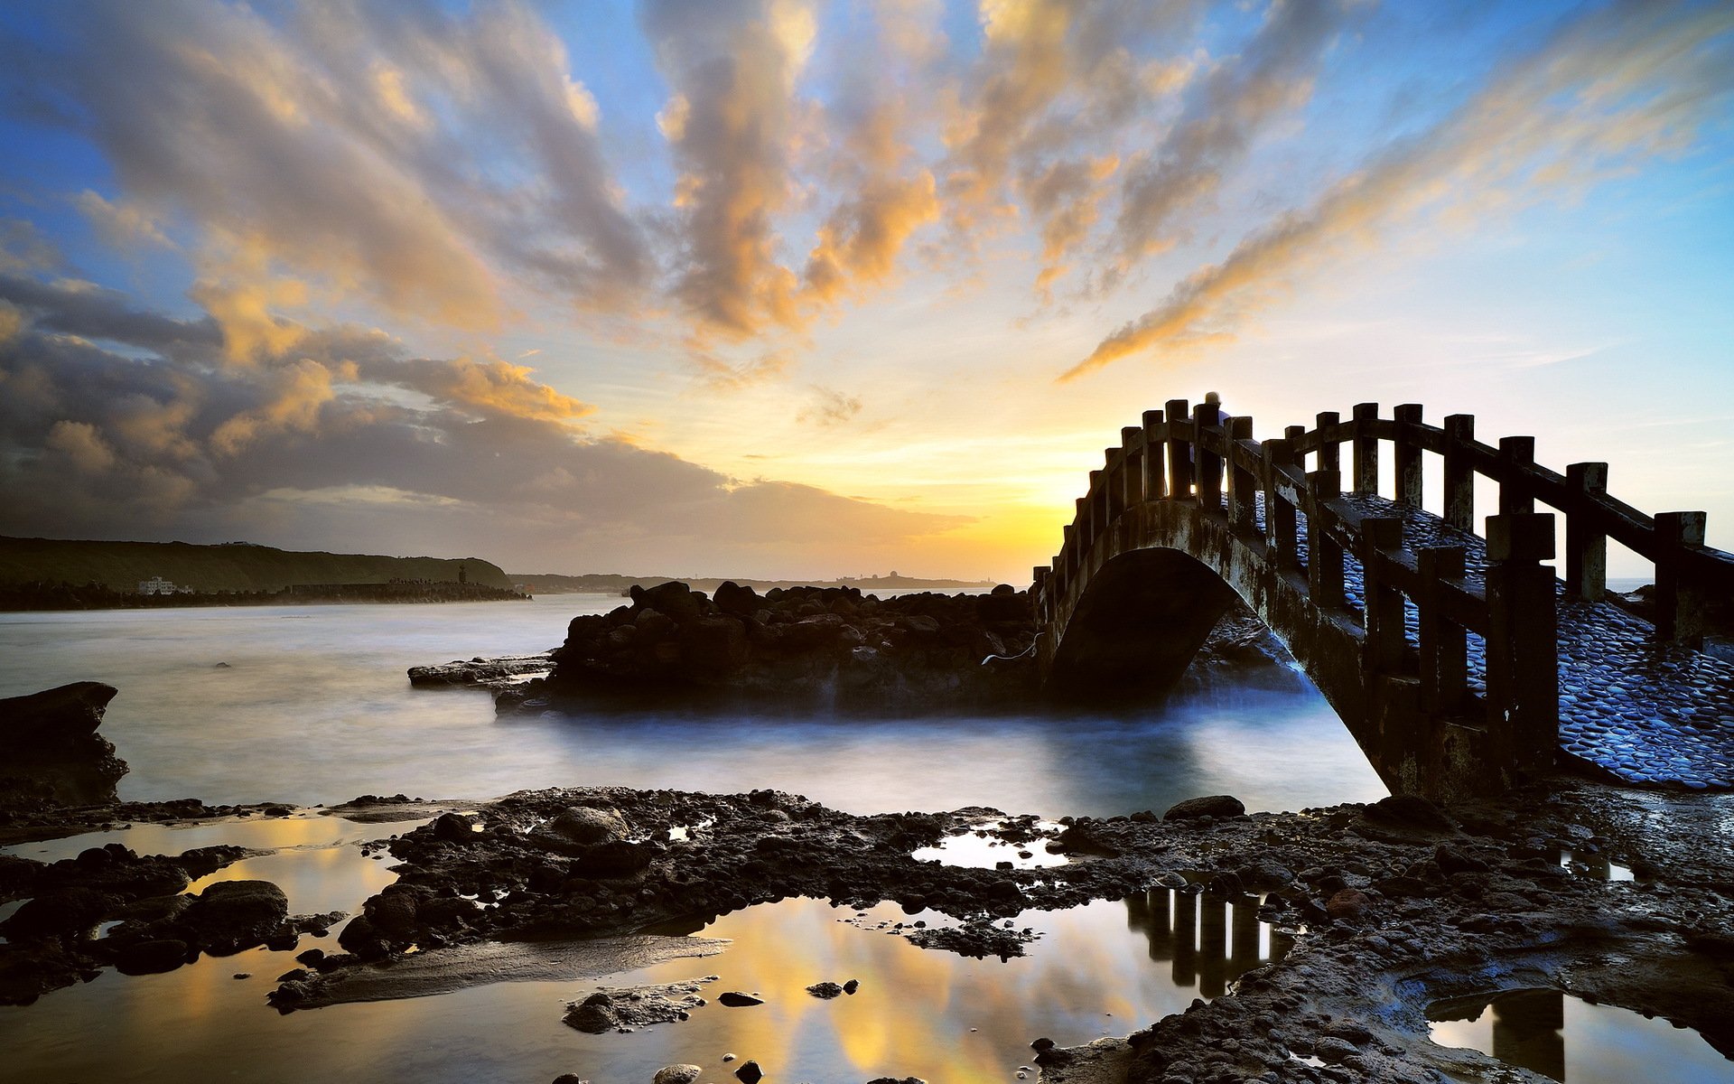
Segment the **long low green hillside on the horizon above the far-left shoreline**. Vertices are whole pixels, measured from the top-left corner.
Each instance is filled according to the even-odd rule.
[[[297,553],[231,543],[62,541],[0,536],[0,584],[101,583],[132,591],[140,579],[161,576],[196,591],[279,591],[291,584],[388,583],[392,579],[458,581],[510,588],[499,565],[479,557],[375,557],[368,553]]]

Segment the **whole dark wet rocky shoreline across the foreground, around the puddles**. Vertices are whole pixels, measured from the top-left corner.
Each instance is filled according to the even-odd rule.
[[[577,787],[486,803],[399,794],[293,810],[118,803],[113,794],[69,805],[14,789],[0,801],[0,831],[16,843],[121,822],[284,815],[416,827],[368,845],[395,860],[395,883],[361,905],[335,950],[302,952],[300,966],[279,976],[271,996],[279,1011],[702,957],[721,942],[685,935],[718,914],[791,897],[850,909],[890,902],[907,917],[884,933],[931,952],[1009,957],[1042,950],[1028,930],[1007,928],[1020,914],[1094,900],[1150,905],[1164,893],[1247,902],[1283,935],[1285,950],[1212,1001],[1129,1035],[1079,1048],[1030,1035],[1042,1081],[1486,1077],[1512,1070],[1434,1044],[1427,1008],[1519,987],[1659,1015],[1734,1058],[1725,923],[1734,796],[1550,777],[1450,808],[1387,798],[1247,813],[1235,798],[1202,796],[1160,813],[1044,822],[988,808],[855,815],[780,791]],[[964,833],[1065,860],[981,869],[917,857]],[[1562,864],[1568,852],[1578,864]],[[108,968],[151,973],[201,954],[293,947],[303,931],[347,917],[290,914],[269,881],[186,891],[255,853],[215,845],[160,857],[108,845],[52,864],[0,857],[0,904],[26,900],[0,923],[0,1002],[52,997]],[[1585,859],[1618,862],[1633,878],[1595,876]],[[99,924],[109,926],[102,937]],[[711,989],[701,971],[695,964],[690,982],[657,989],[603,987],[600,997],[572,1001],[565,1020],[579,1030],[678,1028],[732,1004],[727,997],[751,997]],[[808,994],[825,997],[836,985],[836,996],[850,996],[834,978],[846,976],[813,975]]]

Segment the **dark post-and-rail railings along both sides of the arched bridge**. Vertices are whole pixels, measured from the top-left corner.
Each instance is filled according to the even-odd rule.
[[[1261,442],[1252,439],[1250,418],[1221,418],[1216,406],[1174,399],[1120,437],[1118,447],[1105,451],[1103,468],[1091,472],[1053,565],[1035,569],[1047,621],[1070,614],[1110,550],[1138,545],[1139,517],[1157,501],[1184,501],[1224,520],[1273,574],[1297,578],[1314,607],[1361,628],[1373,671],[1417,673],[1424,701],[1444,713],[1474,709],[1481,699],[1469,692],[1467,635],[1486,642],[1490,711],[1522,716],[1524,704],[1547,699],[1545,716],[1557,713],[1557,678],[1538,676],[1557,673],[1555,579],[1542,564],[1555,555],[1555,527],[1554,515],[1536,513],[1538,505],[1564,515],[1571,598],[1606,595],[1609,538],[1654,562],[1661,640],[1699,638],[1711,600],[1734,597],[1734,555],[1705,545],[1703,512],[1649,517],[1607,494],[1606,463],[1573,463],[1555,473],[1535,463],[1533,437],[1505,437],[1496,447],[1476,441],[1472,415],[1451,415],[1436,427],[1422,421],[1417,404],[1380,418],[1377,404],[1363,402],[1349,420],[1323,413],[1313,428],[1294,425]],[[1460,531],[1474,532],[1476,477],[1498,484],[1498,513],[1486,520],[1486,569],[1465,569],[1462,546],[1406,550],[1399,519],[1370,517],[1349,500],[1379,494],[1384,444],[1392,449],[1394,493],[1382,496],[1420,508],[1424,453],[1437,456],[1443,519]],[[1347,496],[1344,446],[1351,453]],[[1103,545],[1110,536],[1118,545]],[[1351,553],[1365,578],[1359,607],[1344,591]],[[1413,647],[1405,637],[1405,598],[1420,619]]]

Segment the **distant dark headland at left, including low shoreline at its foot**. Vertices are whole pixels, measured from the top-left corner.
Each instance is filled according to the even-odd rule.
[[[0,611],[522,598],[479,557],[0,536]]]

